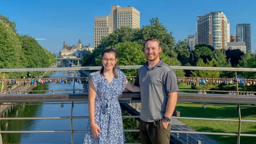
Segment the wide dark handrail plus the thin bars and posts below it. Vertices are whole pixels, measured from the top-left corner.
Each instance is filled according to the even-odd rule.
[[[140,102],[133,100],[140,98],[140,93],[123,93],[119,96],[120,103]],[[73,119],[86,119],[89,116],[73,116],[73,107],[75,104],[88,103],[88,93],[81,94],[17,94],[17,95],[0,95],[0,102],[22,105],[24,103],[43,104],[40,102],[54,102],[50,104],[71,104],[71,115],[69,117],[26,117],[26,118],[0,118],[0,120],[47,120],[47,119],[70,119],[71,130],[45,130],[45,131],[0,131],[0,133],[71,133],[71,143],[73,144],[74,132],[86,132],[86,130],[73,130]],[[252,95],[229,95],[229,94],[197,94],[178,92],[178,102],[197,102],[197,103],[214,103],[214,104],[256,104],[256,97]],[[47,104],[47,103],[44,103]],[[238,107],[240,113],[240,106]],[[139,118],[139,116],[122,116],[123,118]],[[188,120],[211,120],[211,121],[232,121],[232,122],[250,122],[256,123],[256,120],[244,120],[240,117],[237,119],[226,118],[194,118],[194,117],[173,117],[173,119]],[[241,125],[239,125],[241,127]],[[239,130],[239,128],[237,128]],[[139,132],[138,129],[125,129],[124,132]],[[256,137],[255,134],[239,134],[225,132],[191,132],[171,130],[171,133],[179,134],[204,134],[204,135],[225,135],[225,136],[245,136]],[[239,144],[239,143],[238,143]]]

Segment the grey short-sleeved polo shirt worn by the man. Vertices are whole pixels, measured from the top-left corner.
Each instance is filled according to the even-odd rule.
[[[140,67],[134,85],[140,86],[140,119],[145,122],[161,119],[166,111],[168,94],[179,90],[175,72],[162,59],[152,68],[148,61]]]

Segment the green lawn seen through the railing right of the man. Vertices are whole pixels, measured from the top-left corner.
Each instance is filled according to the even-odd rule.
[[[180,111],[180,116],[197,118],[228,118],[238,119],[236,106],[213,106],[206,105],[206,109],[201,108],[201,104],[177,104],[176,109]],[[242,119],[256,120],[256,107],[241,107]],[[231,132],[236,133],[238,122],[222,122],[210,120],[180,120],[186,125],[199,132]],[[241,133],[256,134],[256,123],[242,123]],[[237,136],[207,135],[222,144],[236,144]],[[240,144],[254,144],[256,137],[241,137]]]

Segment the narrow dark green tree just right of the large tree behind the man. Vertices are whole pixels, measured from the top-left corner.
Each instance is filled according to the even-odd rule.
[[[185,40],[179,40],[178,43],[175,44],[176,52],[178,54],[178,60],[184,66],[190,61],[190,52],[188,51],[189,46]]]

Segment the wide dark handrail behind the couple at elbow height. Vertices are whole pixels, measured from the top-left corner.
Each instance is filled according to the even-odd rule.
[[[123,92],[120,100],[140,99],[140,93]],[[0,102],[71,102],[88,100],[88,93],[0,95]],[[178,102],[256,104],[254,95],[197,94],[178,92]]]

